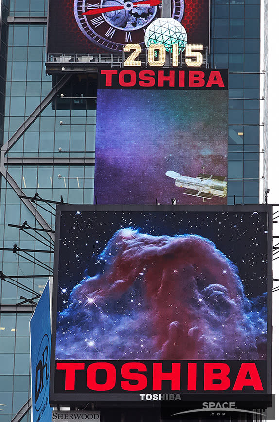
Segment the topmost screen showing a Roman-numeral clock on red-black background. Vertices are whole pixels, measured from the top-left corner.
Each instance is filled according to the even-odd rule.
[[[127,43],[144,47],[148,25],[161,17],[161,0],[50,0],[49,54],[121,53]],[[209,0],[173,0],[172,18],[188,43],[209,45]]]

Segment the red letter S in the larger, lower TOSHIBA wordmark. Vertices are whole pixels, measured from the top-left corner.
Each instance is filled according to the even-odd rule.
[[[128,380],[135,380],[137,384],[131,384],[130,381],[121,381],[120,385],[126,391],[140,391],[147,387],[147,378],[143,374],[130,372],[131,369],[146,372],[146,365],[141,362],[127,362],[121,368],[121,375]]]

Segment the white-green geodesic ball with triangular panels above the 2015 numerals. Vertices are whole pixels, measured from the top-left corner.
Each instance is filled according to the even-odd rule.
[[[146,47],[150,44],[163,44],[166,51],[172,52],[172,45],[179,45],[179,53],[186,47],[187,33],[178,20],[173,18],[159,18],[147,27],[144,42]]]

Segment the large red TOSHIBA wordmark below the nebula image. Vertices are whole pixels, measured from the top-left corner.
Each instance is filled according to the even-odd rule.
[[[261,362],[57,362],[56,380],[57,390],[77,393],[260,392],[266,387],[264,366]]]

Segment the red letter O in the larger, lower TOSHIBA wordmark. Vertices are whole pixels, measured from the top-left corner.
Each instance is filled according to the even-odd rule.
[[[105,369],[106,371],[106,382],[104,384],[98,384],[96,381],[96,372],[98,369]],[[115,386],[116,381],[116,369],[112,363],[109,362],[94,362],[88,366],[87,369],[87,387],[90,390],[95,391],[108,391]]]

